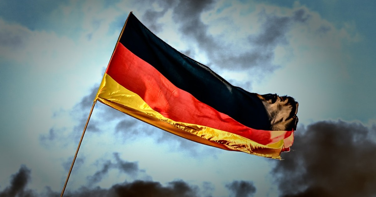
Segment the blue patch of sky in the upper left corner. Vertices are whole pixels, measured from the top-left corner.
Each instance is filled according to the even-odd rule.
[[[0,1],[0,8],[3,8],[0,17],[11,23],[21,24],[33,31],[55,32],[58,36],[78,39],[81,33],[85,32],[83,29],[84,3],[84,1],[77,1],[71,4],[68,0],[5,0]],[[113,3],[105,1],[93,2],[89,5],[101,8],[102,6],[112,6]],[[62,9],[64,7],[67,9]]]

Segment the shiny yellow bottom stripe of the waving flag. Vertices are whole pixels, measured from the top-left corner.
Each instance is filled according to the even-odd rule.
[[[103,76],[96,99],[158,128],[209,146],[276,159],[280,159],[280,152],[284,148],[284,140],[263,145],[230,132],[168,119],[153,110],[136,93],[118,84],[108,74]]]

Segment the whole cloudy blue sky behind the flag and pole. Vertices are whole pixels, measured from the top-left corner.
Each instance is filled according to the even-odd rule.
[[[233,85],[295,98],[294,145],[221,150],[97,102],[64,196],[375,196],[375,6],[0,0],[0,197],[60,195],[130,11]]]

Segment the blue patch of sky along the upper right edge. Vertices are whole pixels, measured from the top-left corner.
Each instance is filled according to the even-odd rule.
[[[241,0],[240,0],[241,1]],[[259,3],[267,3],[280,7],[293,8],[295,0],[256,0]],[[376,84],[376,1],[299,1],[300,5],[309,10],[318,12],[320,16],[329,21],[337,29],[346,29],[346,24],[353,25],[355,29],[347,28],[350,36],[359,33],[360,41],[351,42],[344,40],[341,50],[344,57],[350,56],[347,62],[347,72],[350,75],[346,84],[340,86],[342,95],[338,95],[338,103],[343,106],[341,112],[347,120],[358,119],[367,122],[376,119],[376,103],[371,98],[376,97],[373,90]],[[346,55],[347,54],[347,55]],[[340,71],[338,71],[340,72]],[[345,115],[346,114],[346,115]]]

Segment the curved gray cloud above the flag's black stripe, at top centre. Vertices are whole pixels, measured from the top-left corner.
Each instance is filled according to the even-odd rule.
[[[263,21],[261,30],[257,35],[250,35],[247,43],[254,49],[238,51],[237,45],[226,44],[226,38],[210,35],[208,26],[200,19],[202,12],[211,8],[212,3],[213,1],[210,0],[180,1],[174,8],[173,17],[179,24],[184,38],[192,39],[197,43],[200,49],[206,52],[212,64],[226,69],[258,67],[265,71],[273,71],[278,67],[272,63],[274,49],[278,44],[288,44],[285,34],[291,24],[305,23],[310,18],[304,9],[295,11],[291,17],[268,15],[262,11],[259,13],[259,20]]]

